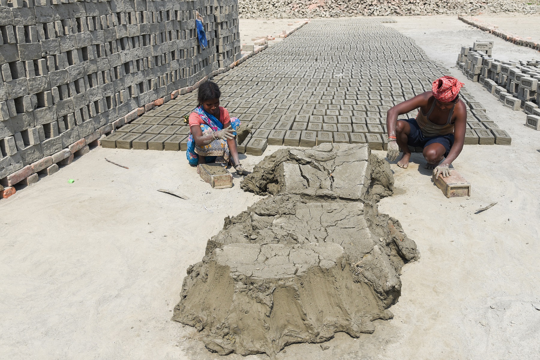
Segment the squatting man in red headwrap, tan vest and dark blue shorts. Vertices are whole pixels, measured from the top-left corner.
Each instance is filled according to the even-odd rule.
[[[456,78],[444,76],[433,82],[431,91],[403,101],[387,112],[387,158],[394,161],[400,148],[403,156],[397,162],[409,166],[412,147],[423,147],[426,168],[437,177],[450,176],[449,166],[463,150],[467,128],[467,106],[459,98],[463,86]],[[416,119],[397,120],[397,117],[420,108]]]

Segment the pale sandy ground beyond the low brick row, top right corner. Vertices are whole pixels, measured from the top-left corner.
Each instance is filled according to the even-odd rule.
[[[484,23],[489,23],[523,39],[540,41],[540,14],[524,15],[508,13],[504,15],[482,14],[473,17]],[[540,57],[540,54],[538,55]]]

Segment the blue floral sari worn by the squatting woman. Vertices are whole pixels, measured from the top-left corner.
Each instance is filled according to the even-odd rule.
[[[194,113],[203,120],[204,124],[201,124],[201,130],[203,135],[211,134],[214,131],[219,131],[223,129],[223,124],[215,116],[204,111],[203,106],[198,106],[193,110]],[[231,118],[231,126],[235,130],[233,132],[236,136],[236,129],[240,126],[240,120],[238,118]],[[187,139],[187,152],[186,158],[190,162],[190,165],[199,164],[199,156],[206,157],[206,162],[218,162],[224,166],[227,166],[231,153],[229,152],[229,147],[227,141],[223,139],[215,139],[210,144],[205,146],[198,146],[193,140],[193,135]]]

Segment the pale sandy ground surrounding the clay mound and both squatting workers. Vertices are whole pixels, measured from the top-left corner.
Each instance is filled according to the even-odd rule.
[[[396,19],[387,25],[449,67],[462,45],[488,36],[455,16]],[[494,40],[497,58],[535,55]],[[403,268],[394,319],[377,320],[374,334],[359,339],[338,334],[325,351],[291,345],[277,359],[537,358],[540,132],[523,126],[523,112],[450,71],[510,133],[512,145],[465,146],[454,166],[473,184],[470,198],[444,198],[420,154],[408,169],[393,164],[396,192],[380,210],[401,221],[422,255]],[[251,168],[261,159],[242,162]],[[211,189],[184,152],[96,148],[2,200],[0,358],[223,359],[170,317],[185,269],[204,255],[206,240],[225,216],[259,199],[242,192],[239,180]]]

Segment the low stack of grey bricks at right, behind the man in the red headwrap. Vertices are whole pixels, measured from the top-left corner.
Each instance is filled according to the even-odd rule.
[[[462,47],[456,66],[504,106],[527,113],[525,125],[540,130],[540,61],[500,61],[491,57],[492,47],[492,42],[485,41]]]

